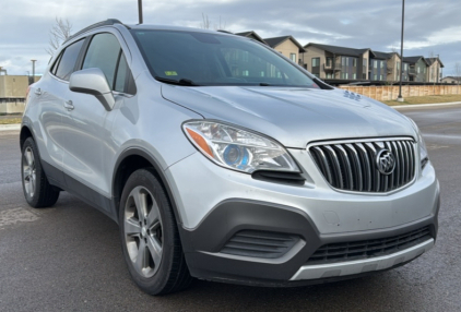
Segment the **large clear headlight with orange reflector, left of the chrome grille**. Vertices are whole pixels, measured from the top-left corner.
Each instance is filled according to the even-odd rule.
[[[212,121],[191,121],[182,128],[190,142],[220,166],[247,173],[256,170],[299,172],[286,149],[271,139]]]

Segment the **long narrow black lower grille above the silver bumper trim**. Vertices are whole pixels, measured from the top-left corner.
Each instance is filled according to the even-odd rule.
[[[432,238],[429,227],[411,232],[364,241],[329,243],[320,247],[307,261],[307,264],[346,262],[374,256],[392,254],[411,248]]]

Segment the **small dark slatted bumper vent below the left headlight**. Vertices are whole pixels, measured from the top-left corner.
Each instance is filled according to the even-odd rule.
[[[221,252],[251,257],[275,259],[287,253],[299,239],[295,235],[243,230],[233,236]]]

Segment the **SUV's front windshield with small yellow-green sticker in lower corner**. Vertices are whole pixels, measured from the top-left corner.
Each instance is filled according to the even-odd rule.
[[[277,52],[244,37],[177,31],[132,29],[152,73],[184,85],[317,87]]]

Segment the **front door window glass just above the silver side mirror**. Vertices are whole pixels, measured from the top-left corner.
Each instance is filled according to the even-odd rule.
[[[94,36],[83,61],[82,69],[101,69],[106,75],[110,88],[113,88],[120,49],[121,47],[114,35],[98,34]]]

